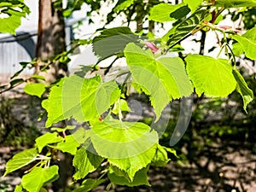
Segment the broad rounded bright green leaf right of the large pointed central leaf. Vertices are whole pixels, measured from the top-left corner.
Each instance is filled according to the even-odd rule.
[[[195,92],[201,96],[228,96],[236,89],[236,79],[229,61],[204,55],[188,55],[187,72],[195,85]]]

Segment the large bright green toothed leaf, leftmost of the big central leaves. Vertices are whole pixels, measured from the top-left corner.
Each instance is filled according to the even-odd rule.
[[[73,117],[79,122],[96,120],[116,102],[120,90],[115,82],[102,83],[100,76],[83,79],[70,76],[52,87],[42,103],[48,112],[46,127]]]

